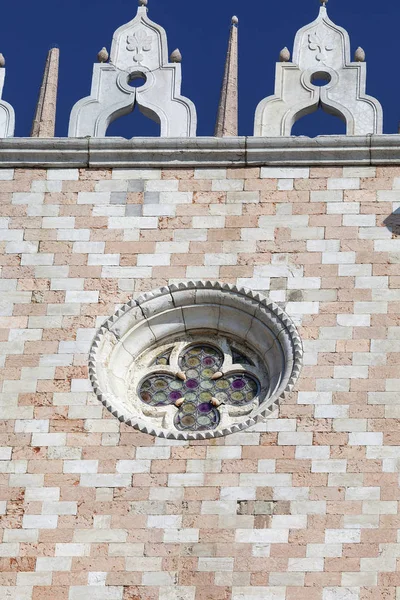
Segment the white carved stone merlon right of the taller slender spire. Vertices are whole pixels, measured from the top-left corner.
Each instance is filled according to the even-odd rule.
[[[366,64],[351,62],[349,35],[325,6],[297,32],[292,62],[277,63],[275,95],[258,105],[254,135],[289,136],[298,119],[319,107],[345,121],[348,135],[382,133],[382,107],[366,95]]]

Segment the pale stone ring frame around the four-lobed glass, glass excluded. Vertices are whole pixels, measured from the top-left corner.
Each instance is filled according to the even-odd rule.
[[[129,402],[127,373],[152,349],[179,337],[213,333],[248,346],[264,362],[270,396],[250,416],[229,427],[183,432],[157,426]],[[161,438],[204,440],[226,436],[263,421],[292,392],[300,375],[303,346],[295,325],[274,302],[249,289],[210,281],[173,284],[122,306],[96,334],[89,375],[97,398],[120,421]]]

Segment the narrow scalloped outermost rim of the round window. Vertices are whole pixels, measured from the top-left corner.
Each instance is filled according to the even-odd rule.
[[[134,420],[132,415],[124,415],[115,407],[113,402],[113,396],[109,393],[105,393],[100,386],[98,377],[98,365],[99,365],[99,352],[101,350],[102,342],[106,334],[112,333],[116,340],[119,341],[121,334],[116,334],[114,330],[115,325],[130,311],[139,309],[140,317],[136,319],[136,322],[144,322],[151,316],[162,314],[166,309],[168,303],[177,307],[183,306],[201,306],[202,303],[206,303],[207,291],[211,294],[220,292],[221,299],[226,296],[226,302],[220,302],[220,306],[233,307],[239,310],[238,307],[243,305],[243,312],[247,315],[251,314],[245,310],[246,304],[251,305],[254,310],[253,318],[257,314],[262,314],[264,319],[271,324],[272,330],[275,332],[276,338],[283,338],[280,340],[284,346],[285,358],[290,365],[290,373],[286,377],[286,385],[284,389],[280,389],[279,393],[272,395],[268,400],[265,401],[265,406],[262,405],[262,410],[255,416],[245,419],[242,423],[236,423],[231,427],[224,430],[216,431],[205,431],[197,433],[185,433],[179,431],[166,431],[163,429],[155,428],[151,423],[146,422],[142,417]],[[196,302],[197,294],[203,296],[203,302]],[[187,303],[184,304],[182,301],[185,299]],[[129,325],[129,323],[128,323]],[[126,324],[125,324],[126,326]],[[127,331],[129,331],[129,326]],[[126,332],[125,332],[126,333]],[[168,338],[168,334],[164,335],[164,339]],[[161,342],[161,339],[157,340]],[[287,355],[291,349],[291,356]],[[110,317],[97,332],[89,354],[89,375],[90,380],[97,398],[102,404],[109,410],[119,421],[126,423],[135,429],[148,433],[150,435],[158,436],[161,438],[174,439],[174,440],[204,440],[226,436],[255,425],[256,423],[264,420],[268,417],[279,405],[282,399],[285,399],[288,394],[293,391],[297,379],[300,376],[300,372],[303,364],[303,345],[300,335],[293,324],[290,317],[274,302],[268,300],[262,294],[253,292],[244,287],[237,287],[231,284],[225,284],[220,282],[211,281],[189,281],[187,283],[173,284],[167,287],[156,289],[152,292],[143,294],[136,300],[131,300],[124,306],[122,306],[117,312]],[[114,397],[115,399],[115,397]]]

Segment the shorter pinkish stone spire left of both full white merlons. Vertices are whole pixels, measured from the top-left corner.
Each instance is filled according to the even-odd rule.
[[[39,100],[32,124],[31,137],[54,137],[56,127],[59,61],[60,50],[58,48],[52,48],[49,51],[46,60]]]

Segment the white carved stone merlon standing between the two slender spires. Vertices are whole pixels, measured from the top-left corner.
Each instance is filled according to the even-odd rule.
[[[131,85],[142,79],[141,87]],[[72,109],[69,137],[105,137],[112,121],[137,106],[160,124],[161,137],[195,137],[194,104],[181,95],[182,71],[169,62],[165,30],[141,5],[114,34],[109,63],[95,64],[92,91]]]

